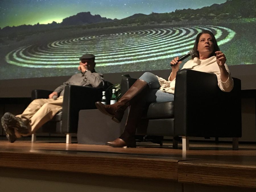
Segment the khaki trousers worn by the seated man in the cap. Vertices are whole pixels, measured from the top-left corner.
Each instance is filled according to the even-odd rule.
[[[62,109],[63,96],[54,99],[35,99],[24,112],[16,117],[20,117],[27,122],[29,133],[26,135],[18,133],[15,129],[16,137],[28,136],[35,133],[44,123],[51,120],[54,115]]]

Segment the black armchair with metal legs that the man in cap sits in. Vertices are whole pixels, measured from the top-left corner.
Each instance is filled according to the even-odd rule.
[[[84,109],[96,109],[95,102],[101,100],[102,91],[112,86],[105,81],[104,88],[92,88],[86,86],[67,85],[64,90],[62,110],[60,110],[51,121],[45,123],[40,129],[43,133],[65,133],[66,143],[71,143],[71,134],[77,133],[79,111]],[[32,90],[32,100],[38,98],[49,98],[49,90]],[[106,94],[110,97],[110,91]],[[32,135],[34,142],[35,134]]]

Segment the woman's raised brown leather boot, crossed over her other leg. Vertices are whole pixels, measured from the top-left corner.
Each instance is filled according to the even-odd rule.
[[[115,104],[104,105],[96,102],[95,105],[102,113],[111,116],[113,121],[120,123],[125,109],[139,99],[146,88],[149,88],[147,82],[138,79]]]

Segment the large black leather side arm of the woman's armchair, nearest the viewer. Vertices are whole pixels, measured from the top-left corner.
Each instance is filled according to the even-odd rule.
[[[214,74],[189,69],[178,71],[174,95],[175,136],[241,137],[241,80],[233,80],[233,90],[223,92]]]

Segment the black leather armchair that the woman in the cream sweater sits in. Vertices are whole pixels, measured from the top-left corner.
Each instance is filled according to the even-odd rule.
[[[122,93],[136,79],[121,82]],[[152,103],[137,127],[137,135],[173,136],[173,147],[182,137],[182,149],[189,149],[189,137],[232,137],[233,150],[241,137],[241,80],[223,92],[216,75],[183,69],[177,72],[174,102]],[[146,123],[145,123],[146,121]]]

